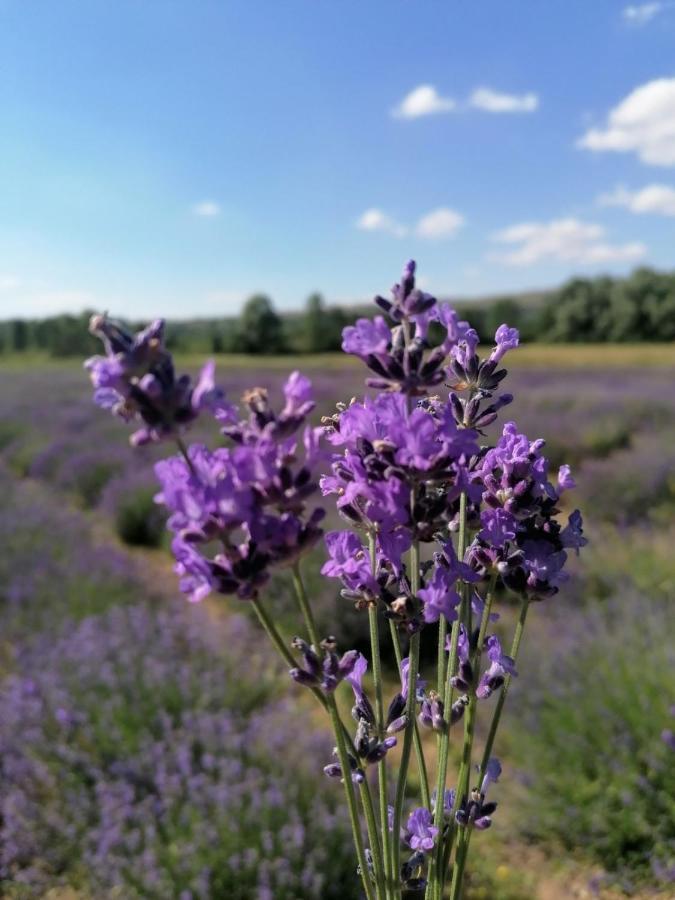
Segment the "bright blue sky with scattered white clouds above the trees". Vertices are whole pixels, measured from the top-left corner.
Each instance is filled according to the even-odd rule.
[[[675,3],[0,0],[0,318],[675,264]]]

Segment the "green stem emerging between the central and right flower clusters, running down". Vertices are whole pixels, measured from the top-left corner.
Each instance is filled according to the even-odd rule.
[[[457,558],[463,562],[466,552],[466,493],[462,492],[459,498],[459,535],[457,539]],[[441,643],[439,638],[438,644],[438,668],[439,668],[439,687],[438,693],[443,697],[443,709],[446,717],[447,727],[443,734],[439,735],[438,740],[438,771],[436,779],[436,809],[434,811],[434,825],[438,828],[438,834],[443,835],[443,827],[445,824],[445,785],[448,776],[448,758],[450,755],[450,709],[452,707],[452,685],[450,684],[450,676],[454,674],[455,664],[457,662],[457,645],[459,643],[459,625],[463,618],[463,607],[467,603],[466,584],[460,586],[462,596],[462,606],[459,614],[452,624],[450,632],[450,653],[448,654],[448,663],[445,662],[445,639],[443,640],[443,648],[441,653]],[[443,659],[441,659],[441,655]],[[449,671],[448,671],[449,668]],[[443,680],[441,682],[441,674]],[[427,887],[427,900],[437,897],[440,900],[443,892],[443,876],[445,867],[443,865],[444,846],[443,839],[439,837],[436,846],[436,852],[431,857],[429,864],[429,883]]]

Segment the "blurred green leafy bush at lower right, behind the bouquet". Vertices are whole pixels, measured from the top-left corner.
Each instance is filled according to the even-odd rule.
[[[561,610],[514,703],[523,830],[583,851],[623,887],[658,880],[675,857],[670,622],[666,601],[625,595],[583,617]]]

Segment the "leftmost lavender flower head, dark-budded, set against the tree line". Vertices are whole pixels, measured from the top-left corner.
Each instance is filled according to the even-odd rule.
[[[92,334],[101,338],[105,356],[85,362],[94,386],[94,401],[126,421],[143,425],[132,444],[154,443],[180,434],[203,411],[227,421],[232,407],[214,383],[214,364],[204,366],[193,386],[189,375],[176,376],[164,345],[164,321],[157,319],[129,334],[106,316],[92,316]]]

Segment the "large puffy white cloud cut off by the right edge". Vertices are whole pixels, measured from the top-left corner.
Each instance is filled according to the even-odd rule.
[[[675,166],[675,78],[636,88],[610,111],[605,128],[591,128],[577,146],[634,152],[642,162]]]

